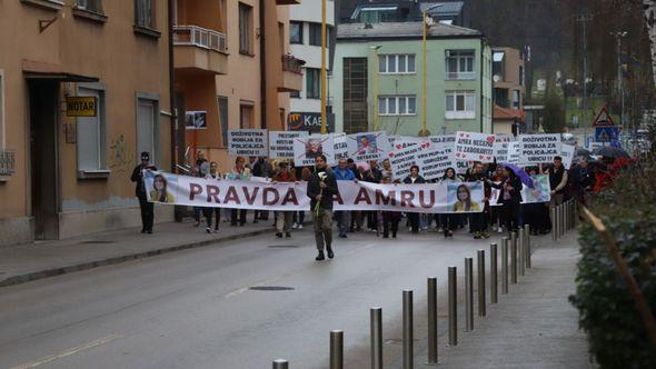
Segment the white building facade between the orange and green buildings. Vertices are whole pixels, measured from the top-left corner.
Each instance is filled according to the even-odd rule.
[[[290,93],[289,130],[317,132],[321,126],[321,1],[304,0],[289,7],[289,43],[291,53],[305,60],[304,84],[300,92]],[[335,1],[326,0],[326,23],[328,50],[326,66],[330,73],[330,54],[335,40]],[[328,78],[330,83],[330,78]],[[329,129],[334,127],[329,113]]]

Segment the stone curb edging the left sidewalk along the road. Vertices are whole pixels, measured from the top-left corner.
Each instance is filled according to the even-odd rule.
[[[248,238],[248,237],[267,235],[267,233],[270,233],[271,231],[272,231],[272,228],[265,228],[265,229],[255,230],[255,231],[247,232],[247,233],[225,236],[225,237],[219,237],[219,238],[215,238],[215,239],[208,239],[208,240],[202,240],[202,241],[197,241],[197,242],[191,242],[191,243],[171,246],[171,247],[167,247],[163,249],[141,251],[141,252],[125,255],[125,256],[120,256],[120,257],[111,257],[111,258],[102,259],[102,260],[85,261],[85,262],[76,263],[76,265],[68,266],[68,267],[60,267],[60,268],[33,271],[33,272],[29,272],[26,275],[13,276],[13,277],[9,277],[6,279],[1,279],[0,280],[0,288],[21,285],[21,283],[26,283],[26,282],[30,282],[30,281],[34,281],[34,280],[39,280],[39,279],[44,279],[44,278],[50,278],[50,277],[57,277],[57,276],[61,276],[61,275],[68,275],[68,273],[72,273],[76,271],[83,271],[83,270],[89,270],[89,269],[93,269],[93,268],[98,268],[98,267],[117,265],[117,263],[121,263],[121,262],[126,262],[126,261],[130,261],[130,260],[145,259],[145,258],[156,257],[156,256],[176,252],[176,251],[196,249],[196,248],[201,248],[201,247],[206,247],[206,246],[210,246],[210,245],[215,245],[215,243],[225,243],[227,241],[233,241],[233,240],[243,239],[243,238]]]

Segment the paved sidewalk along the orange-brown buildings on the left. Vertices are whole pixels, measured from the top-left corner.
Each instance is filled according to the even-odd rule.
[[[230,227],[221,220],[219,233],[208,235],[205,222],[195,228],[193,221],[186,219],[181,223],[157,223],[152,235],[131,228],[0,248],[0,287],[269,232],[274,236],[271,216],[254,225],[249,215],[243,227]]]

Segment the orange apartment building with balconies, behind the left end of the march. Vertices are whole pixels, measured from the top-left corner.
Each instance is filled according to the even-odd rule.
[[[176,1],[176,107],[187,127],[178,150],[188,162],[202,152],[229,171],[229,129],[286,129],[289,93],[302,89],[289,44],[289,8],[299,3]]]

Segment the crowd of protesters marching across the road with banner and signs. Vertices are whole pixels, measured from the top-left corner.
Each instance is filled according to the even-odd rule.
[[[142,163],[135,168],[132,180],[137,182],[137,195],[139,196],[143,217],[142,232],[152,232],[152,210],[146,203],[146,196],[140,169],[148,168],[149,156],[142,154]],[[395,178],[388,160],[378,162],[355,162],[351,159],[340,159],[335,168],[326,163],[320,156],[314,167],[294,167],[292,163],[284,160],[268,160],[267,158],[251,158],[247,161],[243,157],[235,159],[232,168],[227,168],[223,174],[219,171],[217,162],[205,159],[199,152],[198,159],[191,168],[191,176],[206,179],[229,179],[229,180],[260,180],[274,182],[307,182],[307,193],[311,200],[311,220],[314,222],[315,239],[319,255],[317,260],[325,258],[326,250],[328,258],[332,258],[332,221],[336,221],[339,238],[347,238],[349,233],[376,232],[382,238],[397,238],[397,235],[405,226],[410,233],[428,232],[436,230],[446,239],[453,238],[454,232],[463,230],[469,232],[474,239],[486,239],[490,232],[511,232],[518,227],[530,225],[533,235],[545,235],[551,229],[549,209],[561,205],[564,201],[574,198],[585,203],[586,195],[592,191],[597,182],[600,167],[590,166],[587,157],[578,158],[578,162],[569,170],[563,166],[563,159],[556,157],[553,163],[537,167],[518,168],[497,163],[471,162],[465,173],[458,173],[455,168],[448,168],[443,178],[427,181],[421,177],[420,168],[413,166],[410,174],[405,178]],[[547,174],[550,184],[550,201],[523,203],[523,181],[517,170],[526,174]],[[524,176],[529,178],[528,176]],[[255,178],[254,178],[255,177]],[[484,203],[465,202],[469,209],[464,211],[477,211],[469,213],[401,213],[398,211],[336,211],[332,212],[332,196],[338,191],[338,181],[365,181],[372,183],[407,183],[421,186],[427,182],[444,182],[447,184],[460,182],[480,181],[484,184]],[[491,189],[499,190],[496,206],[490,206],[489,198]],[[463,195],[460,195],[460,191]],[[467,192],[467,193],[465,193]],[[458,197],[470,197],[466,186],[458,187]],[[316,208],[316,209],[315,209]],[[246,209],[221,209],[221,208],[193,208],[195,227],[200,227],[205,220],[205,231],[208,233],[219,232],[219,225],[223,212],[223,222],[232,227],[242,227],[247,222]],[[267,210],[254,211],[252,222],[267,221]],[[305,211],[275,211],[272,227],[278,238],[290,238],[294,229],[302,229],[305,223]],[[205,218],[205,219],[201,219]],[[465,233],[466,235],[466,233]]]

